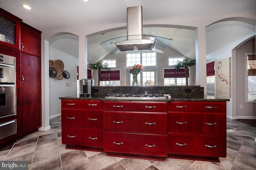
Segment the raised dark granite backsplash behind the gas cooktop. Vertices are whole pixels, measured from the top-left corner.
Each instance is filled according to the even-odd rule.
[[[94,97],[106,96],[110,93],[161,93],[171,96],[204,95],[200,86],[94,86]]]

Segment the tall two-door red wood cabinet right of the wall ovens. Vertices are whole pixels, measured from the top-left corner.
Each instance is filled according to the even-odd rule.
[[[42,123],[41,32],[22,23],[20,41],[26,45],[20,53],[20,102],[22,134],[36,131]]]

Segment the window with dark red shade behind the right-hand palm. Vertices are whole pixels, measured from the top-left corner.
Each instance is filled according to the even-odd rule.
[[[184,69],[164,69],[164,86],[186,86]]]

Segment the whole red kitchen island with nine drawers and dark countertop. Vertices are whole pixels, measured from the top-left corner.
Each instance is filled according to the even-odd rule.
[[[218,162],[226,157],[226,102],[212,96],[170,99],[61,97],[62,144],[108,156]]]

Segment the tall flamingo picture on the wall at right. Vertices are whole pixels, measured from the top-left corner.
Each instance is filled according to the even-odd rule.
[[[217,61],[216,96],[230,97],[230,58]]]

